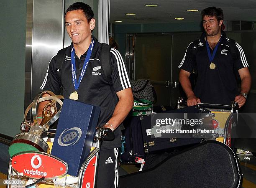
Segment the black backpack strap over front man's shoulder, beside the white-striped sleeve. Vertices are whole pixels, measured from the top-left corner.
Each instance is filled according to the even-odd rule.
[[[105,80],[111,85],[111,68],[110,68],[110,48],[111,46],[101,43],[100,63]]]

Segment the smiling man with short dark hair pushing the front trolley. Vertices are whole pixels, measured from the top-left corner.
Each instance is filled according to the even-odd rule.
[[[97,126],[112,130],[115,139],[102,142],[97,187],[116,188],[119,187],[117,156],[118,147],[121,146],[121,130],[118,126],[133,107],[133,94],[123,59],[114,48],[108,52],[111,81],[109,83],[106,80],[102,64],[108,62],[100,62],[102,45],[92,36],[95,23],[89,5],[78,2],[69,6],[65,13],[65,26],[72,43],[67,47],[61,70],[56,69],[58,57],[54,56],[51,59],[41,89],[59,94],[62,88],[64,98],[100,107]],[[78,82],[79,80],[81,82]],[[43,106],[40,105],[40,108]]]

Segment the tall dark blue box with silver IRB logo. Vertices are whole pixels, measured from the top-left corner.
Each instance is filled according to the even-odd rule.
[[[51,155],[69,165],[68,174],[77,176],[89,155],[100,107],[64,99]]]

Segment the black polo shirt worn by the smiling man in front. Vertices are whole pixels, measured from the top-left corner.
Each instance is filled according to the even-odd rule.
[[[87,66],[87,70],[83,76],[83,79],[77,90],[79,102],[87,104],[94,104],[100,107],[100,117],[98,120],[98,126],[103,126],[110,117],[112,117],[115,105],[117,104],[116,92],[131,87],[128,71],[123,62],[123,58],[120,53],[111,48],[110,50],[110,67],[111,67],[111,81],[113,87],[108,84],[102,73],[102,67],[100,63],[101,44],[97,42],[97,39],[92,36],[95,41],[95,45],[92,50],[92,55]],[[72,80],[71,69],[71,49],[73,44],[67,48],[66,57],[62,64],[61,70],[56,67],[56,56],[54,56],[50,63],[44,79],[41,85],[41,90],[50,90],[55,94],[59,94],[62,85],[64,98],[69,99],[69,95],[75,91]],[[81,56],[81,60],[75,55],[77,80],[81,74],[81,70],[84,64],[84,59],[87,52]],[[103,64],[104,62],[102,62]],[[61,72],[61,74],[60,74]],[[60,76],[61,75],[61,76]],[[60,79],[61,77],[61,79]],[[115,130],[115,140],[102,143],[102,149],[120,147],[121,131],[118,127]]]

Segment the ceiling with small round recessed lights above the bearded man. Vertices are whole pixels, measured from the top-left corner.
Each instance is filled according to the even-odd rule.
[[[145,4],[158,4],[146,7]],[[224,11],[224,20],[256,21],[256,0],[110,0],[110,23],[177,23],[201,20],[201,10],[215,6]],[[198,9],[198,12],[187,12]],[[136,15],[125,15],[136,13]],[[171,15],[171,16],[170,16]],[[174,20],[182,17],[184,20]]]

